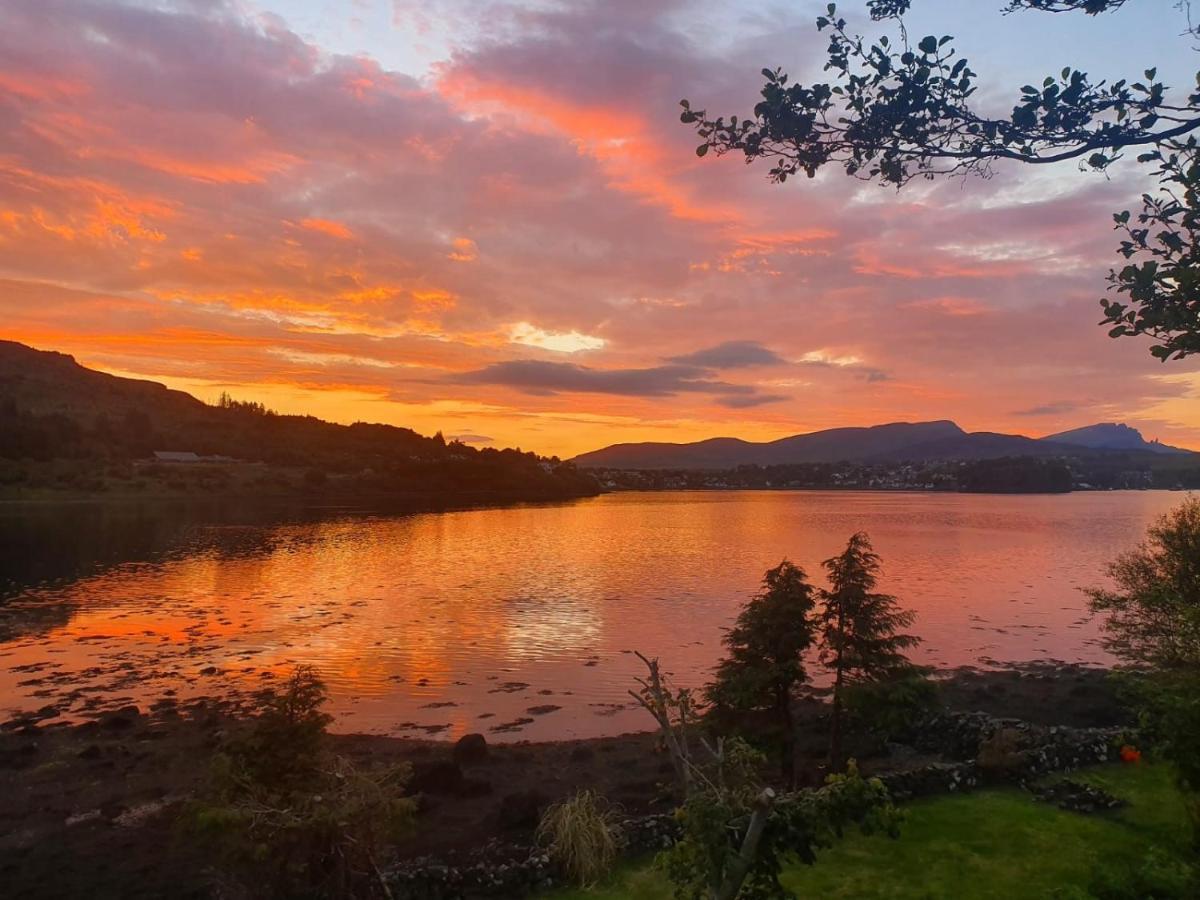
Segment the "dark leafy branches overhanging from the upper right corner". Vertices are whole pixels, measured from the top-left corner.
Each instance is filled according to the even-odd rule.
[[[1132,0],[1130,0],[1132,1]],[[1006,12],[1081,11],[1099,14],[1127,0],[1010,0]],[[1100,300],[1102,325],[1112,337],[1145,335],[1160,360],[1200,353],[1200,89],[1183,97],[1156,80],[1093,82],[1067,66],[1040,86],[1021,88],[1007,116],[972,107],[977,73],[949,35],[913,44],[902,16],[911,0],[869,0],[875,20],[899,23],[899,38],[871,43],[852,34],[829,4],[816,24],[829,34],[828,83],[790,83],[781,70],[762,70],[762,100],[750,116],[710,118],[682,101],[682,120],[696,128],[700,156],[742,154],[767,160],[773,181],[824,166],[901,187],[913,178],[988,176],[1000,161],[1045,166],[1078,161],[1104,172],[1123,151],[1138,150],[1153,167],[1157,194],[1142,196],[1136,216],[1114,215],[1128,260],[1109,272],[1115,296]],[[1178,4],[1187,10],[1187,2]],[[1188,31],[1195,34],[1188,19]]]

